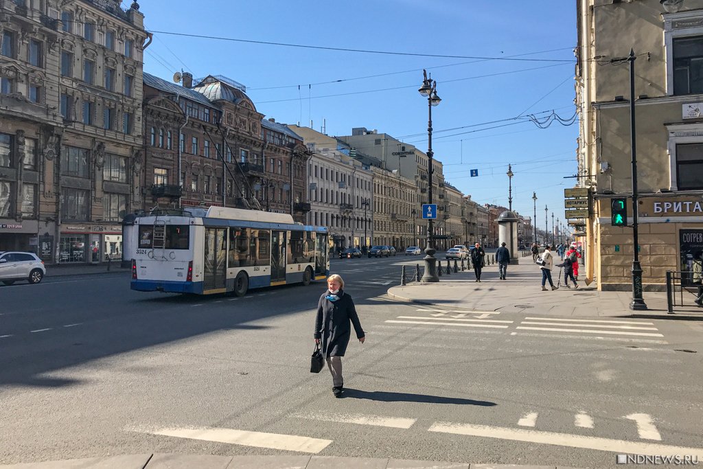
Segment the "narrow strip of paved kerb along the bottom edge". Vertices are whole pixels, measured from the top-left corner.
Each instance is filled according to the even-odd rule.
[[[106,458],[0,465],[0,469],[573,469],[554,465],[466,464],[335,456],[124,454]]]

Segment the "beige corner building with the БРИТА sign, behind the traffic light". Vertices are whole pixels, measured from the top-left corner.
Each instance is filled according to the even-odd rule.
[[[577,15],[578,180],[594,200],[582,221],[586,276],[601,290],[633,285],[634,98],[643,288],[662,290],[666,271],[690,271],[703,250],[703,1],[580,0]],[[631,49],[634,96],[624,60]],[[613,198],[628,198],[627,227],[611,224]]]

